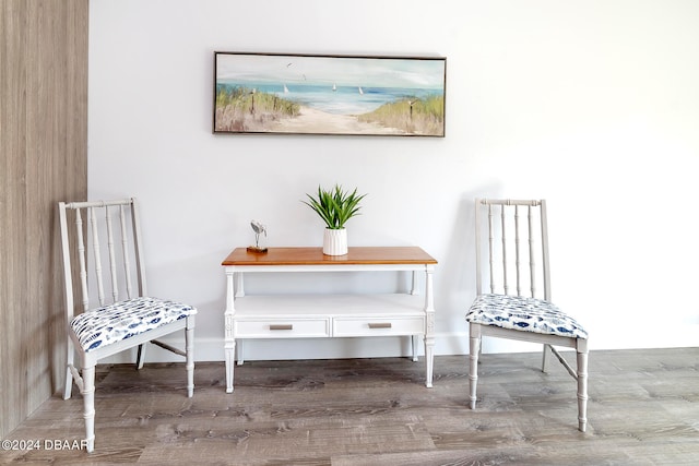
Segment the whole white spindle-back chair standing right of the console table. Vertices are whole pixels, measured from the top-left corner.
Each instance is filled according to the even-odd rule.
[[[578,429],[584,432],[588,422],[588,333],[550,301],[546,201],[477,199],[475,212],[477,297],[466,313],[471,409],[476,406],[483,336],[542,343],[542,371],[546,372],[548,356],[553,353],[578,381]],[[487,213],[487,226],[483,225],[484,213]],[[485,235],[488,235],[487,252],[483,241]],[[540,283],[543,289],[537,288]],[[576,349],[577,370],[554,345]]]

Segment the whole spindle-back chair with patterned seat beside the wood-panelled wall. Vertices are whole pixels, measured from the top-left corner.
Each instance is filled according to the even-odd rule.
[[[194,391],[193,337],[197,309],[147,295],[135,199],[60,202],[59,216],[69,335],[63,398],[70,398],[74,379],[83,395],[85,440],[87,451],[92,452],[95,441],[97,361],[138,346],[137,368],[140,369],[143,367],[144,345],[152,342],[186,357],[187,396],[191,397]],[[72,217],[70,223],[69,216]],[[75,298],[72,280],[74,263],[80,271]],[[91,267],[94,268],[94,277],[88,277],[88,263],[94,265]],[[107,277],[103,277],[103,265],[108,270]],[[108,286],[107,295],[105,282]],[[78,307],[76,315],[74,307]],[[182,328],[185,351],[153,340]],[[75,353],[80,358],[82,373],[73,366]]]

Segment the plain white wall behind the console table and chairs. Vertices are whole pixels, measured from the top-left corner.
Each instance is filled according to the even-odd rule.
[[[439,261],[438,353],[467,353],[475,195],[548,200],[554,298],[587,324],[593,349],[699,344],[699,2],[92,0],[90,10],[90,196],[141,199],[151,294],[199,307],[198,359],[223,358],[220,263],[252,241],[249,220],[268,225],[269,246],[319,246],[322,225],[299,200],[334,182],[369,193],[351,246],[417,244]],[[214,50],[445,56],[446,138],[213,135]],[[285,286],[309,287],[276,277],[257,289]],[[401,345],[257,342],[247,357]]]

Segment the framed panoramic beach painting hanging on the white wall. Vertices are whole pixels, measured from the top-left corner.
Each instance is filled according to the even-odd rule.
[[[214,133],[445,136],[447,59],[214,52]]]

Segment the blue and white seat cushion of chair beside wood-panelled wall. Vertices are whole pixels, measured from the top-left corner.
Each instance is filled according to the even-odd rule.
[[[70,326],[83,350],[90,353],[196,313],[188,304],[140,297],[83,312]]]

